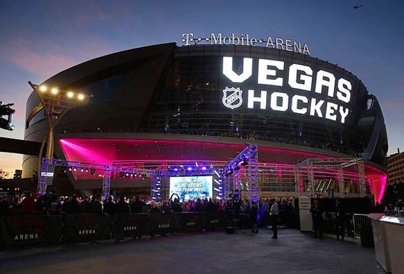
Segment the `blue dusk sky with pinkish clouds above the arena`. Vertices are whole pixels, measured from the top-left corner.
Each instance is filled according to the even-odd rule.
[[[353,9],[353,6],[362,8]],[[382,107],[389,154],[404,150],[404,1],[5,1],[0,2],[0,101],[15,103],[12,132],[24,139],[28,80],[108,53],[182,33],[249,33],[290,38],[310,55],[358,76]],[[0,153],[0,169],[21,169],[22,156]]]

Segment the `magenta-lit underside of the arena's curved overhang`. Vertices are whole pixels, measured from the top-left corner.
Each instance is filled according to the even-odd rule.
[[[97,164],[117,161],[195,162],[229,161],[245,146],[209,142],[145,139],[60,139],[67,160]],[[258,148],[261,163],[297,164],[306,158],[328,157],[279,148]],[[365,166],[367,180],[377,201],[383,198],[387,176],[374,166]]]

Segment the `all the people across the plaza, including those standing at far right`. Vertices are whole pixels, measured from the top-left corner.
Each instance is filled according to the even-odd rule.
[[[333,199],[331,199],[333,200]],[[331,201],[332,202],[332,201]],[[322,237],[324,223],[327,222],[328,212],[333,212],[335,234],[337,239],[344,240],[346,230],[346,214],[352,213],[344,203],[335,199],[331,207],[326,208],[324,203],[319,200],[313,200],[310,207],[310,213],[313,219],[313,237]],[[371,212],[382,209],[382,205],[376,205]],[[403,211],[404,203],[398,200],[396,207],[398,211]],[[139,195],[128,197],[118,196],[114,198],[109,196],[103,200],[101,195],[93,196],[56,196],[47,194],[46,196],[33,196],[29,192],[14,196],[8,194],[0,195],[0,216],[6,215],[44,215],[44,214],[136,214],[136,213],[160,213],[171,214],[180,212],[233,212],[247,216],[248,227],[252,232],[258,233],[258,225],[272,225],[273,236],[277,238],[277,223],[290,224],[295,220],[297,214],[295,211],[295,200],[293,198],[268,199],[261,198],[259,203],[248,199],[231,197],[229,200],[200,199],[179,201],[177,198],[168,200],[150,200],[143,199]],[[259,216],[259,217],[258,217]],[[258,223],[259,219],[259,223]],[[289,225],[288,225],[289,226]]]

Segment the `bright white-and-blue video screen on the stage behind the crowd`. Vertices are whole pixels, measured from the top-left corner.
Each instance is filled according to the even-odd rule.
[[[170,177],[170,197],[177,194],[180,201],[209,199],[212,197],[212,180],[212,176]]]

